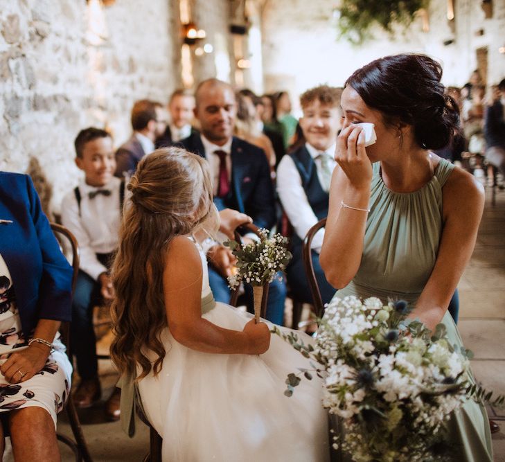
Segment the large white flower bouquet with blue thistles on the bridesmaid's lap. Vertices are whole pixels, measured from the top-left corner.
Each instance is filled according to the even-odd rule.
[[[316,346],[273,330],[314,368],[288,375],[285,395],[292,395],[302,375],[321,377],[323,405],[342,428],[334,447],[354,461],[444,460],[443,422],[467,397],[491,399],[492,393],[468,382],[471,352],[454,348],[443,324],[432,334],[405,319],[409,311],[405,301],[383,305],[346,296],[327,306]]]

